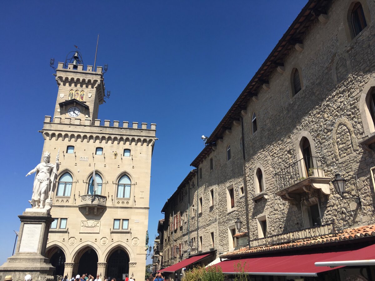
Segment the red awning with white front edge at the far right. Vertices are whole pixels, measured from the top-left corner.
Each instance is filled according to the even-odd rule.
[[[333,258],[318,260],[316,266],[375,265],[375,244],[342,253]]]

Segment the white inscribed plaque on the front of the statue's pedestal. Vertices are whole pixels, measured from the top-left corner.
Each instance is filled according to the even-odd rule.
[[[24,224],[19,252],[37,253],[42,224]]]

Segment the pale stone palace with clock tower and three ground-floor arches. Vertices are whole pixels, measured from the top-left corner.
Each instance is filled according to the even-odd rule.
[[[46,255],[56,275],[143,278],[156,125],[98,119],[102,67],[58,63],[55,79],[54,117],[40,131],[42,155],[60,151]]]

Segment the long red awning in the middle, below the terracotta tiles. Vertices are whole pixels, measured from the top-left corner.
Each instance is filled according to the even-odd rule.
[[[319,272],[332,270],[332,268],[327,266],[315,266],[314,263],[317,260],[336,257],[339,254],[347,252],[348,251],[272,257],[253,257],[239,260],[225,260],[217,263],[214,266],[220,266],[225,274],[236,274],[240,272],[236,268],[237,264],[240,263],[240,265],[245,269],[245,273],[251,275],[317,276]]]

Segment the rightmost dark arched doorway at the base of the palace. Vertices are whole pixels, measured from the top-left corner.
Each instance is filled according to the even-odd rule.
[[[108,279],[111,277],[116,278],[116,280],[122,280],[123,274],[129,276],[129,256],[124,250],[118,248],[108,258],[107,276]]]

